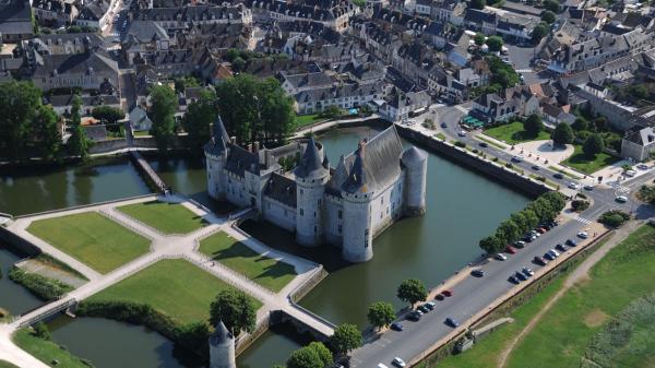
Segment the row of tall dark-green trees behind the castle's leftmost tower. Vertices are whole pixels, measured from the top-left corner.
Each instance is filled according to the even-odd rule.
[[[166,150],[176,133],[177,97],[169,86],[158,85],[151,90],[151,134],[157,146]],[[295,129],[294,102],[273,78],[260,80],[250,74],[239,74],[216,86],[215,91],[204,91],[198,100],[189,105],[182,119],[191,149],[199,151],[210,140],[210,127],[217,114],[238,144],[261,142],[276,145]]]

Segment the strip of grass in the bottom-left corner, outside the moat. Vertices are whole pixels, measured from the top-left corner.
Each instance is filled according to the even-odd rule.
[[[32,335],[29,329],[16,331],[16,333],[13,335],[13,342],[19,345],[19,347],[32,354],[34,357],[50,367],[56,367],[52,361],[57,360],[59,361],[57,367],[88,368],[88,365],[84,364],[81,358],[61,348],[56,343]],[[0,367],[4,368],[14,366],[3,366],[0,363]]]

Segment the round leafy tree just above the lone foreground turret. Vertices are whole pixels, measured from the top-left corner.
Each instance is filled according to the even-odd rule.
[[[241,331],[252,332],[255,319],[255,309],[250,297],[237,289],[218,293],[210,307],[210,323],[216,325],[218,321],[223,321],[235,336]]]

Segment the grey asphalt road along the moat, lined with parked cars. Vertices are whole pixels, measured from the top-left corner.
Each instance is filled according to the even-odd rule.
[[[451,116],[451,118],[454,116],[452,115],[452,108],[449,108],[446,111],[451,111],[446,112],[450,114],[449,116]],[[448,135],[463,140],[469,145],[475,145],[485,151],[489,156],[498,156],[508,162],[511,159],[511,154],[499,151],[492,146],[486,149],[480,147],[478,145],[479,142],[471,136],[458,138],[456,135],[458,128],[455,124],[457,120],[458,119],[445,121],[448,127],[443,129],[443,131]],[[438,120],[437,123],[439,124],[442,121],[444,120]],[[417,123],[414,126],[414,129],[421,130],[422,128]],[[517,166],[525,169],[526,173],[544,175],[551,178],[553,181],[558,181],[552,177],[555,173],[549,169],[534,171],[531,167],[532,165],[527,163],[522,163]],[[641,183],[652,180],[653,177],[655,177],[655,173],[652,170],[647,175],[623,182],[622,186],[628,188],[628,190],[634,190],[639,188]],[[562,188],[565,188],[567,182],[567,180],[559,181]],[[571,217],[574,218],[543,235],[536,241],[529,244],[525,249],[520,250],[519,253],[510,256],[507,261],[501,262],[490,260],[487,264],[481,266],[481,269],[487,272],[485,277],[465,277],[462,282],[452,287],[454,294],[453,297],[446,298],[443,301],[437,301],[438,306],[436,310],[424,316],[419,322],[403,321],[405,327],[404,331],[389,331],[378,341],[355,351],[353,353],[350,366],[373,368],[377,367],[379,363],[391,366],[392,359],[396,356],[403,358],[405,361],[413,360],[426,349],[430,348],[437,341],[445,337],[452,332],[452,329],[444,323],[448,317],[454,318],[462,323],[472,316],[484,311],[497,298],[512,289],[513,285],[508,282],[510,274],[521,270],[523,266],[529,266],[537,273],[543,272],[540,271],[543,268],[532,263],[532,259],[535,256],[543,256],[547,250],[553,248],[555,245],[563,244],[569,238],[576,238],[577,232],[590,227],[592,221],[595,221],[602,213],[610,209],[632,211],[638,218],[653,216],[652,206],[639,205],[632,199],[630,199],[628,203],[617,203],[615,201],[617,191],[614,188],[600,186],[593,191],[586,191],[585,194],[593,199],[593,205],[590,209],[579,216],[572,215]]]

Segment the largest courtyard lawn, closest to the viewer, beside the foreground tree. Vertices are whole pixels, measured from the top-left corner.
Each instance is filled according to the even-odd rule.
[[[216,295],[233,286],[184,260],[163,260],[92,296],[90,301],[148,304],[181,323],[206,321]],[[255,309],[262,304],[252,299]]]

